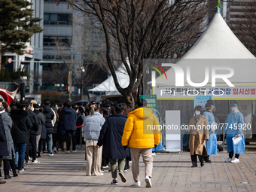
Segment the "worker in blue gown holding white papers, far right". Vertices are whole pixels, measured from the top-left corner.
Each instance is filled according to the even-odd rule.
[[[242,135],[244,117],[238,110],[238,106],[237,102],[231,102],[231,113],[227,115],[225,122],[224,134],[226,134],[227,152],[229,153],[226,163],[239,163],[239,154],[245,154],[245,139]],[[242,139],[234,145],[233,137],[240,136]],[[235,159],[232,160],[233,154],[235,154]]]

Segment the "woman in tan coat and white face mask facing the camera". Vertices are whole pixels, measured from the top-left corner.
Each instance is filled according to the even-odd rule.
[[[203,116],[203,107],[197,106],[194,108],[195,116],[190,119],[188,130],[189,149],[191,155],[192,166],[197,167],[197,156],[200,160],[201,167],[204,166],[203,157],[207,157],[206,141],[209,140],[209,132],[206,128],[208,120]]]

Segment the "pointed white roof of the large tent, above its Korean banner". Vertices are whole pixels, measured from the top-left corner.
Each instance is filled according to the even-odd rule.
[[[191,81],[195,83],[204,81],[206,66],[209,66],[210,75],[212,66],[230,67],[234,70],[233,77],[229,78],[231,82],[253,83],[256,82],[255,60],[254,55],[227,26],[221,14],[217,13],[197,43],[187,51],[177,65],[181,66],[185,75],[189,66]],[[221,72],[221,74],[227,74],[227,72]],[[166,75],[168,80],[159,77],[156,82],[175,83],[174,69],[167,70]],[[211,80],[209,78],[209,83]],[[184,83],[187,83],[186,78]],[[224,84],[224,81],[217,79],[216,83]]]

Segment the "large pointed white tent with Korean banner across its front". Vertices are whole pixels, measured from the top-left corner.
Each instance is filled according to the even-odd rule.
[[[156,79],[156,86],[152,88],[152,92],[157,95],[157,105],[164,106],[159,108],[160,114],[163,114],[162,118],[168,119],[164,117],[166,110],[178,110],[181,111],[179,120],[181,123],[187,124],[193,114],[193,101],[201,96],[211,96],[213,100],[220,100],[218,101],[218,110],[226,111],[227,114],[228,100],[239,100],[239,105],[243,106],[242,110],[249,108],[251,100],[256,98],[255,61],[256,58],[236,38],[221,14],[215,14],[196,44],[176,63],[176,66],[173,66],[180,69],[179,74],[178,72],[175,74],[177,70],[172,67],[166,71],[167,78],[163,75],[163,78]],[[158,63],[158,65],[161,64]],[[229,87],[222,78],[216,78],[216,86],[212,86],[212,72],[215,72],[215,67],[218,67],[216,74],[222,77],[225,74],[232,74],[233,70],[233,76],[230,75],[228,80],[235,87]],[[175,86],[177,82],[182,81],[184,81],[183,86]],[[191,81],[197,84],[197,87],[190,86],[188,83]],[[199,86],[202,82],[204,84]],[[215,90],[216,95],[214,94]],[[206,101],[200,101],[200,104],[204,105],[204,102]],[[223,114],[221,115],[223,116]],[[244,113],[244,117],[245,123],[251,124],[250,110],[247,114]],[[250,130],[248,130],[247,136],[251,136]],[[179,135],[173,134],[172,130],[166,130],[166,151],[172,151],[174,146],[173,143],[170,145],[168,142],[179,145],[180,141],[176,138],[179,138]]]

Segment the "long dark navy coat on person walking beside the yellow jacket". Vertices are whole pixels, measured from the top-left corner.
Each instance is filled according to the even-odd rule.
[[[123,159],[127,157],[123,149],[122,136],[127,117],[124,114],[112,114],[105,121],[100,131],[98,146],[103,145],[102,157]]]

